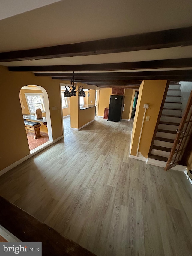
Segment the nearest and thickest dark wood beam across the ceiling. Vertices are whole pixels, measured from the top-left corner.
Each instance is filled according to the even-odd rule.
[[[4,52],[0,53],[0,62],[120,53],[188,45],[192,45],[192,27]]]

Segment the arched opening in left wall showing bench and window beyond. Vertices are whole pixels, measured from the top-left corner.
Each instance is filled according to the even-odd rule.
[[[53,141],[48,94],[41,86],[27,85],[21,88],[19,99],[29,149],[34,153]]]

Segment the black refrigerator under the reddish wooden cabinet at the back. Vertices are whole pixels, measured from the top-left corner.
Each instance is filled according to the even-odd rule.
[[[109,104],[109,121],[120,122],[123,113],[124,96],[123,95],[110,95]]]

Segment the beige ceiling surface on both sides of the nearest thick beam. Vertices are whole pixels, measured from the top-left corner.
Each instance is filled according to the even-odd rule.
[[[0,20],[0,52],[192,26],[191,0],[43,0],[29,1],[34,2],[30,6],[26,0],[1,2],[5,16],[24,13]],[[41,5],[46,6],[37,8]],[[187,57],[192,57],[192,46],[0,64],[77,65]]]

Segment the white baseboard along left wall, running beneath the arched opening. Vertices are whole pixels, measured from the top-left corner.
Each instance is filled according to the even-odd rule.
[[[41,152],[42,150],[46,149],[47,147],[49,147],[50,145],[54,144],[55,142],[57,142],[58,140],[61,140],[63,138],[63,136],[58,137],[56,140],[53,141],[49,141],[48,143],[44,143],[46,144],[45,146],[41,147],[40,149],[36,150],[35,152],[32,152],[32,154],[26,155],[25,157],[19,159],[18,161],[16,161],[15,163],[7,166],[6,168],[4,168],[3,170],[0,171],[0,176],[3,175],[4,173],[8,172],[9,170],[13,169],[14,167],[16,167],[17,165],[21,164],[22,162],[26,161],[27,159],[31,158],[32,156],[36,155],[37,153]],[[44,145],[43,144],[43,145]],[[39,148],[39,147],[38,147]]]

